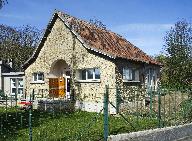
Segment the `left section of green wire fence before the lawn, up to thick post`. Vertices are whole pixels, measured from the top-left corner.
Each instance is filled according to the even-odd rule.
[[[37,96],[41,97],[33,91],[28,100],[18,100],[12,107],[8,104],[0,107],[0,140],[103,139],[103,99],[83,103],[53,97],[37,100]]]

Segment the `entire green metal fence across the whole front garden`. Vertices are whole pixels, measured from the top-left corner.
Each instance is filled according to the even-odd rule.
[[[31,106],[34,95],[33,91],[25,110],[18,109],[16,103],[10,106],[5,98],[5,106],[0,107],[0,141],[107,141],[112,134],[181,125],[192,120],[190,88],[106,86],[103,108],[98,113],[74,110],[73,101],[69,109],[64,106],[66,101],[54,99],[44,101],[43,108],[37,110]]]

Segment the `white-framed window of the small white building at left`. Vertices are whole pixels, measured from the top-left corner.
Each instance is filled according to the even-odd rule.
[[[23,94],[23,79],[22,78],[11,78],[11,95]]]

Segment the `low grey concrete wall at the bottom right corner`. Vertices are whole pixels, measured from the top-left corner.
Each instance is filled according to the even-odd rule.
[[[127,134],[110,135],[108,141],[174,141],[191,136],[191,133],[192,123]]]

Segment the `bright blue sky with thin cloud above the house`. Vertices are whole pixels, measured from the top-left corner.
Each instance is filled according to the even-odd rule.
[[[8,0],[0,10],[0,24],[30,24],[44,29],[54,9],[88,20],[99,19],[114,31],[155,55],[163,37],[181,19],[191,22],[192,0]]]

